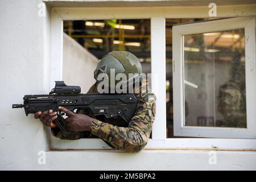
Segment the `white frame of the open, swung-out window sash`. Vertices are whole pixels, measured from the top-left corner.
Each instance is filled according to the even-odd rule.
[[[245,74],[246,74],[246,120],[247,128],[185,126],[184,117],[184,51],[183,36],[226,30],[245,29]],[[255,17],[240,17],[210,20],[199,23],[176,25],[172,28],[174,45],[174,135],[180,137],[210,138],[256,138],[256,85],[255,72],[251,72],[251,63],[255,62]]]

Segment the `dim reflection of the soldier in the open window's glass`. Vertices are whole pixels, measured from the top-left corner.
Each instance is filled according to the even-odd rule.
[[[246,127],[245,63],[237,63],[233,69],[232,80],[220,86],[218,111],[224,127]]]

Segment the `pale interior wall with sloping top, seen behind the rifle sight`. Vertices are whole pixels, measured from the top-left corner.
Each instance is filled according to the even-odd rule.
[[[98,63],[76,40],[67,34],[63,36],[63,80],[67,85],[79,85],[81,93],[86,93],[95,82],[94,69]]]

